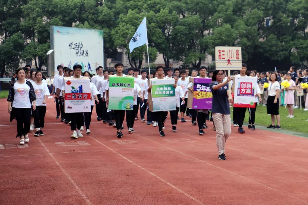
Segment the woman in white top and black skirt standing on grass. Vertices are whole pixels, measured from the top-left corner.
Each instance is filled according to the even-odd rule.
[[[267,108],[267,114],[271,115],[272,124],[270,124],[270,126],[267,126],[267,128],[280,129],[279,99],[278,99],[279,94],[280,94],[280,85],[278,83],[277,74],[271,73],[266,108]],[[277,120],[277,125],[275,125],[275,116]]]

